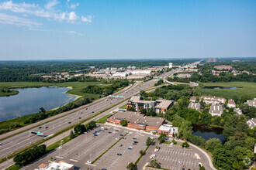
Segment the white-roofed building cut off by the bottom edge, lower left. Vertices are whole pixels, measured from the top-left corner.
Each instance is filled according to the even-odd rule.
[[[36,170],[73,170],[74,165],[67,164],[67,162],[51,162],[49,164],[41,164]]]

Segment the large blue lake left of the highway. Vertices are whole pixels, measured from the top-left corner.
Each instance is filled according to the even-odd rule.
[[[66,87],[13,88],[19,94],[0,97],[0,121],[35,114],[43,107],[51,110],[74,101],[76,96],[65,93]]]

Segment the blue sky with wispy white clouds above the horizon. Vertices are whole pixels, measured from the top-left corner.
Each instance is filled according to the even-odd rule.
[[[255,0],[0,0],[0,60],[256,56]]]

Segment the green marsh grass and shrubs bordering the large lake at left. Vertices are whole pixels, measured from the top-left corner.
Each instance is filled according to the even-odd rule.
[[[94,100],[98,100],[102,98],[102,94],[97,93],[83,93],[82,90],[91,86],[100,86],[100,87],[111,87],[111,82],[103,82],[103,81],[96,81],[96,82],[64,82],[64,83],[44,83],[44,82],[0,82],[0,88],[33,88],[33,87],[66,87],[70,88],[65,93],[69,93],[71,95],[77,96],[74,101],[64,104],[61,107],[56,107],[52,110],[45,110],[45,113],[39,111],[38,113],[28,114],[21,117],[16,117],[13,119],[9,119],[6,121],[0,121],[0,135],[5,134],[9,131],[14,131],[18,128],[22,128],[29,124],[33,124],[37,121],[41,121],[45,118],[52,117],[57,114],[61,114],[67,110],[71,110],[76,107],[80,107],[84,104],[92,103]],[[128,83],[129,85],[129,83]],[[113,91],[115,93],[118,90],[122,90],[124,87],[116,88]],[[40,108],[38,108],[40,110]],[[12,124],[12,126],[10,126]]]

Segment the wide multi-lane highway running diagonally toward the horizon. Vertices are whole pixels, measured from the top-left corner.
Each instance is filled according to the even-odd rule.
[[[175,73],[176,71],[177,70],[171,70],[170,72],[161,75],[161,77],[164,79],[164,77],[171,76],[171,74]],[[41,126],[41,128],[33,128],[30,131],[40,131],[40,133],[43,133],[46,136],[52,135],[63,128],[71,126],[71,124],[76,124],[78,121],[81,121],[86,117],[91,116],[92,114],[96,114],[102,110],[105,110],[106,108],[119,103],[121,100],[125,100],[126,98],[139,93],[140,90],[143,90],[146,87],[150,87],[152,84],[156,83],[157,80],[158,79],[153,79],[141,85],[134,85],[129,90],[123,93],[119,93],[119,96],[123,96],[123,98],[109,97],[106,100],[102,100],[99,103],[92,104],[82,110],[78,110],[64,117],[60,117],[57,120],[50,121],[49,123]],[[30,134],[29,131],[25,131],[21,134],[17,134],[16,136],[5,139],[1,141],[2,145],[0,145],[0,158],[12,154],[14,151],[17,151],[20,148],[24,148],[27,145],[40,140],[41,138],[43,137],[36,136],[36,134]]]

